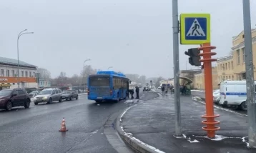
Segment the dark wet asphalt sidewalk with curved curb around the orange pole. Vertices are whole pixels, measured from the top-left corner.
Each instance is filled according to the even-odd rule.
[[[174,99],[170,94],[128,108],[119,117],[120,122],[117,120],[117,130],[139,152],[256,152],[256,148],[247,148],[247,117],[215,109],[215,114],[220,114],[216,120],[221,129],[215,139],[208,139],[201,123],[205,105],[184,96],[181,109],[183,138],[173,137]]]

